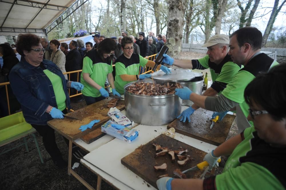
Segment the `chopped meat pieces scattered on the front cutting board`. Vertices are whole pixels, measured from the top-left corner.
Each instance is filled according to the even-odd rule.
[[[182,155],[183,153],[188,152],[187,149],[184,149],[182,147],[178,150],[170,150],[167,147],[161,147],[160,145],[158,145],[156,143],[153,143],[152,145],[155,147],[156,152],[157,152],[155,155],[155,158],[158,156],[164,156],[168,153],[168,155],[170,155],[170,158],[172,159],[172,162],[174,162],[176,160],[176,157],[175,157],[175,155],[176,155],[178,158],[177,163],[179,166],[184,166],[184,165],[186,165],[186,163],[188,163],[192,160],[192,158],[189,155]],[[163,163],[160,166],[154,166],[154,169],[156,171],[158,171],[158,170],[167,171],[167,164]],[[182,171],[178,168],[175,169],[173,171],[173,173],[174,173],[174,175],[176,175],[180,178],[187,178],[186,175],[184,173],[182,173]],[[158,178],[167,177],[167,176],[168,176],[168,174],[164,174],[164,175],[158,176]]]

